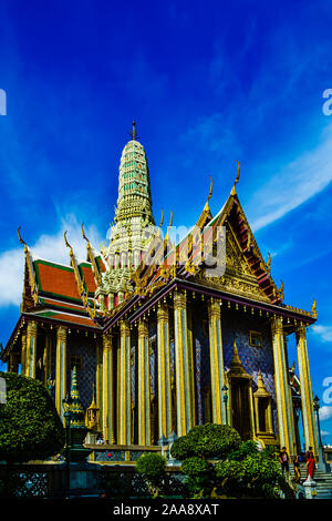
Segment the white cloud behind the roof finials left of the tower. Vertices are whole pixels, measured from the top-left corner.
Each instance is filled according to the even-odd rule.
[[[86,259],[86,242],[82,237],[81,224],[73,214],[62,221],[54,235],[41,235],[35,244],[28,244],[32,256],[69,265],[69,248],[64,244],[64,232],[77,260]],[[95,226],[84,226],[91,245],[97,248],[101,237]],[[24,237],[27,241],[27,237]],[[23,290],[24,253],[23,247],[3,252],[0,255],[0,307],[21,304]]]

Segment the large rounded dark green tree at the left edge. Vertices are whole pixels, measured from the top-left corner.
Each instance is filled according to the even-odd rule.
[[[14,372],[6,379],[6,403],[1,410],[0,460],[24,462],[45,459],[63,449],[62,422],[45,386]]]

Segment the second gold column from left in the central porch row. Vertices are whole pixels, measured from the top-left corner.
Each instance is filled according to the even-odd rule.
[[[120,445],[132,442],[132,394],[131,394],[131,329],[127,320],[120,324],[120,410],[118,439]]]

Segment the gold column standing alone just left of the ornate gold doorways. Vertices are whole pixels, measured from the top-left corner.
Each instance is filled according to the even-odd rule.
[[[210,372],[211,372],[211,399],[212,422],[226,423],[225,402],[221,389],[224,387],[224,357],[221,339],[221,311],[220,304],[211,298],[208,306],[209,317],[209,345],[210,345]]]

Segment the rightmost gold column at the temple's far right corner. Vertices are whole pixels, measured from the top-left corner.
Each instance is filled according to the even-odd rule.
[[[318,436],[314,421],[313,411],[313,394],[311,387],[311,376],[308,356],[308,345],[305,326],[300,325],[297,329],[297,346],[298,346],[298,361],[299,361],[299,376],[301,384],[301,401],[302,401],[302,418],[303,418],[303,432],[307,449],[312,447],[315,454],[318,454]]]

